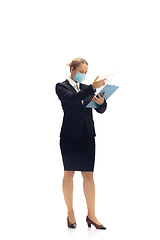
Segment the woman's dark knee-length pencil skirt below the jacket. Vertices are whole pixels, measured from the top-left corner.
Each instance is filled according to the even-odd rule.
[[[84,126],[81,139],[61,138],[60,149],[65,171],[93,172],[95,138],[89,138]]]

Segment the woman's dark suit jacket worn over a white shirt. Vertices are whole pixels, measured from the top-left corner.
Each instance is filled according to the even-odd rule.
[[[81,84],[78,93],[72,85],[65,80],[56,84],[56,93],[61,101],[64,111],[63,124],[60,137],[81,138],[84,122],[88,130],[89,137],[95,137],[95,128],[92,115],[92,108],[86,108],[86,105],[92,100],[95,90],[91,85]],[[82,100],[84,100],[82,104]],[[104,101],[95,110],[103,113],[107,108]]]

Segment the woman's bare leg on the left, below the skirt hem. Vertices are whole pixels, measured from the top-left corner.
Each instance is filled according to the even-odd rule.
[[[64,171],[63,177],[63,195],[68,209],[68,217],[70,223],[75,223],[74,211],[73,211],[73,171]]]

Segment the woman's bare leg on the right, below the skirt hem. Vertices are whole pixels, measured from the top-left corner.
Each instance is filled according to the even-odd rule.
[[[93,179],[93,172],[82,172],[83,176],[83,190],[88,207],[88,217],[100,225],[100,222],[95,215],[95,184]]]

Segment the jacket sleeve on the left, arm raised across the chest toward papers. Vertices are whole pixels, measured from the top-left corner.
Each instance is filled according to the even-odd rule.
[[[68,90],[66,86],[64,86],[62,83],[56,84],[56,93],[61,101],[67,102],[67,103],[77,103],[81,102],[85,98],[89,97],[90,95],[93,95],[95,93],[95,90],[92,88],[92,84],[87,86],[85,89],[73,93]]]

